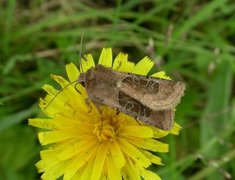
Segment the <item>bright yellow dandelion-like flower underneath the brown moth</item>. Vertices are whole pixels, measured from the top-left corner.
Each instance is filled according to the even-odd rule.
[[[168,152],[168,144],[158,139],[169,133],[177,135],[180,126],[175,123],[171,131],[163,131],[139,125],[134,118],[106,106],[101,115],[94,104],[88,106],[84,87],[77,84],[75,88],[70,83],[78,79],[80,72],[95,66],[90,54],[81,63],[80,71],[74,64],[66,66],[69,81],[52,76],[61,85],[61,91],[50,85],[43,86],[48,95],[40,99],[39,106],[48,118],[29,119],[30,125],[44,129],[38,137],[40,143],[47,146],[40,152],[41,160],[36,164],[38,171],[43,173],[41,178],[160,179],[147,168],[151,164],[162,165],[161,158],[155,154]],[[118,68],[122,72],[146,75],[154,63],[145,57],[134,64],[123,53],[113,61],[112,50],[107,48],[102,50],[98,64]],[[169,79],[164,72],[153,76]]]

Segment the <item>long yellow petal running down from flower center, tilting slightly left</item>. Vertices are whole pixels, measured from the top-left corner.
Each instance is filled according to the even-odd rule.
[[[100,146],[97,149],[97,154],[95,157],[95,162],[93,165],[93,170],[90,179],[99,180],[103,170],[106,154],[107,154],[106,144],[105,143],[100,144]]]

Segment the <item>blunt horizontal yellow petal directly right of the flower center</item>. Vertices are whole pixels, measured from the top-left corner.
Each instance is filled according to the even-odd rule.
[[[138,138],[151,138],[153,131],[147,126],[125,126],[122,128],[123,135],[133,136]]]

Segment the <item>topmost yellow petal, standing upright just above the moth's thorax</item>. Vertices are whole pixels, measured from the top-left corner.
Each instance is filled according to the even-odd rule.
[[[113,54],[111,48],[103,48],[100,58],[99,64],[104,65],[105,67],[112,67],[113,63]]]

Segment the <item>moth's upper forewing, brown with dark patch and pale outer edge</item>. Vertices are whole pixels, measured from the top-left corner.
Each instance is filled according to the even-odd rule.
[[[127,74],[117,88],[152,110],[173,109],[184,95],[185,85],[179,81]]]

